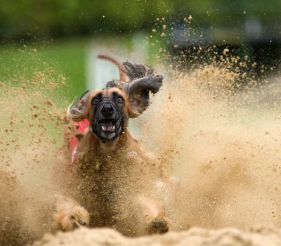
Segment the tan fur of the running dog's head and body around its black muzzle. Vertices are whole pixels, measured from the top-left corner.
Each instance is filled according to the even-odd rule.
[[[154,75],[149,85],[159,83],[158,80],[159,77]],[[141,89],[150,89],[145,86],[142,84]],[[137,93],[141,94],[140,87],[136,88]],[[77,148],[77,163],[71,171],[67,170],[69,166],[66,164],[70,162],[67,145],[75,129],[68,127],[70,135],[66,133],[65,147],[53,167],[53,180],[59,183],[61,193],[65,196],[65,200],[58,202],[54,216],[56,230],[70,231],[83,224],[90,227],[110,226],[126,235],[168,231],[164,209],[153,198],[155,181],[165,179],[164,170],[154,157],[145,153],[127,129],[129,117],[135,117],[130,116],[132,111],[136,111],[133,107],[139,107],[138,95],[132,89],[127,94],[117,87],[107,91],[89,91],[69,108],[68,115],[74,121],[87,118],[91,122],[94,117],[93,98],[100,93],[103,97],[113,98],[114,92],[124,98],[121,107],[124,133],[114,141],[103,143],[91,131],[86,131]]]

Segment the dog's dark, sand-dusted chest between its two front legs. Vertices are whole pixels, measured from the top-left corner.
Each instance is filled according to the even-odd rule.
[[[89,160],[89,159],[88,159]],[[78,200],[93,217],[100,218],[105,224],[114,226],[119,214],[119,202],[124,195],[136,186],[136,176],[132,167],[136,164],[133,158],[115,153],[103,157],[95,157],[91,162],[78,163],[73,169],[76,195]],[[94,224],[98,222],[94,220]]]

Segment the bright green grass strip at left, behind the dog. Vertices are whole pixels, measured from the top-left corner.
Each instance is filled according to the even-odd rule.
[[[85,54],[89,39],[4,44],[0,46],[0,81],[31,79],[34,72],[53,70],[65,77],[65,96],[71,100],[85,90]]]

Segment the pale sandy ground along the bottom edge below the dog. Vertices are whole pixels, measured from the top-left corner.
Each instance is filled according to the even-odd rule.
[[[117,231],[109,228],[85,229],[81,228],[72,233],[58,233],[45,235],[33,246],[56,245],[91,245],[91,246],[273,246],[281,245],[281,231],[271,229],[257,229],[252,232],[242,232],[235,228],[207,230],[190,228],[188,231],[171,232],[165,235],[153,235],[141,238],[126,238]]]

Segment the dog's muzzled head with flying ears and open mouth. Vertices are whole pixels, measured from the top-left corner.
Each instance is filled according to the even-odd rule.
[[[106,89],[86,91],[68,108],[68,117],[89,119],[91,131],[101,141],[112,141],[126,129],[129,118],[138,117],[149,105],[149,91],[157,93],[162,75],[152,68],[122,63],[129,82],[108,82]]]

